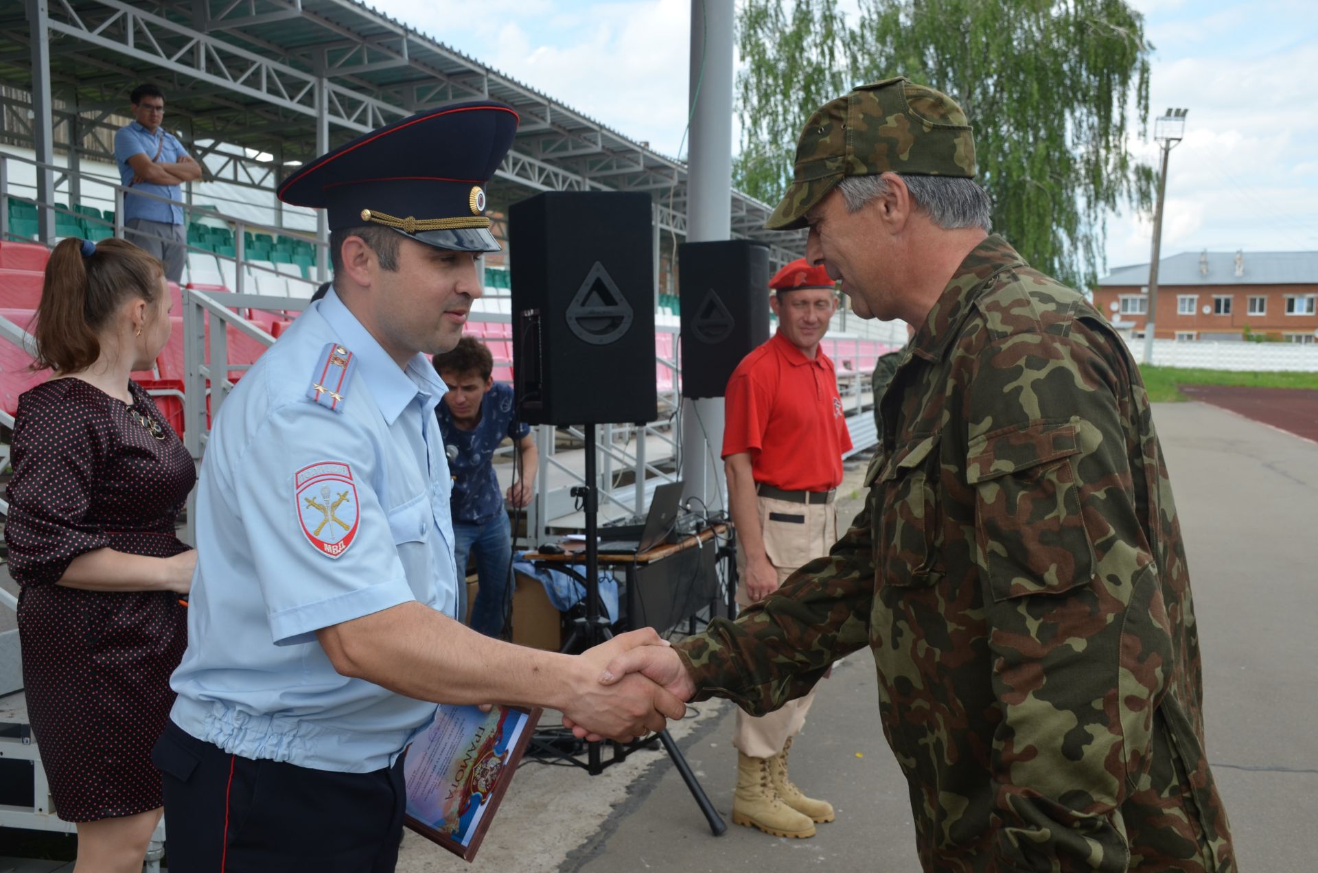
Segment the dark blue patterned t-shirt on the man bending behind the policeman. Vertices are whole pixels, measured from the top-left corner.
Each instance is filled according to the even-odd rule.
[[[481,417],[472,430],[460,430],[453,423],[448,404],[438,407],[439,429],[444,444],[457,448],[457,458],[449,464],[453,471],[453,521],[480,524],[503,512],[503,492],[494,475],[494,450],[511,436],[517,442],[531,433],[531,427],[517,421],[513,411],[513,389],[503,382],[485,392],[481,398]]]

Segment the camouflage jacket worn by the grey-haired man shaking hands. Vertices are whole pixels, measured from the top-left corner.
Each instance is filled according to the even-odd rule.
[[[883,401],[851,530],[679,651],[763,713],[869,646],[927,870],[1234,870],[1148,397],[1075,291],[990,236]]]

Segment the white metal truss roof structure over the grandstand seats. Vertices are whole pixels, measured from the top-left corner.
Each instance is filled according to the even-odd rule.
[[[282,45],[268,25],[291,21],[306,22],[314,38]],[[104,70],[104,83],[98,76],[103,92],[111,83],[120,88],[101,98],[105,115],[123,105],[116,100],[123,99],[123,82],[133,80],[134,65],[174,76],[171,105],[204,98],[204,107],[187,113],[196,137],[192,148],[208,158],[212,177],[225,182],[269,190],[283,161],[311,157],[315,137],[307,133],[322,105],[332,129],[353,136],[452,100],[492,98],[513,105],[522,119],[497,171],[513,186],[509,195],[519,189],[646,191],[659,206],[660,229],[685,235],[684,164],[356,0],[165,0],[150,7],[51,0],[49,30],[63,42],[59,57]],[[58,76],[54,82],[70,86]],[[17,116],[5,112],[7,129]],[[108,127],[104,116],[83,124]],[[262,162],[217,145],[221,141],[260,141],[260,149],[272,153],[286,142],[287,149]],[[496,202],[503,199],[497,187]],[[734,237],[770,245],[774,264],[799,255],[801,235],[763,231],[768,206],[737,191],[731,200]]]

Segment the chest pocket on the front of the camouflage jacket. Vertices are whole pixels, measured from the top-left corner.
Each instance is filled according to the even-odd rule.
[[[938,434],[915,436],[873,471],[871,534],[879,586],[924,587],[942,578]]]

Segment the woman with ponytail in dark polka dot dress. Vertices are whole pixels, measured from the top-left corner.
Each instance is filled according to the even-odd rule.
[[[159,261],[67,239],[46,265],[34,338],[54,376],[18,398],[9,571],[32,729],[78,869],[140,870],[161,816],[150,749],[187,645],[196,553],[174,521],[192,459],[129,380],[169,340]]]

